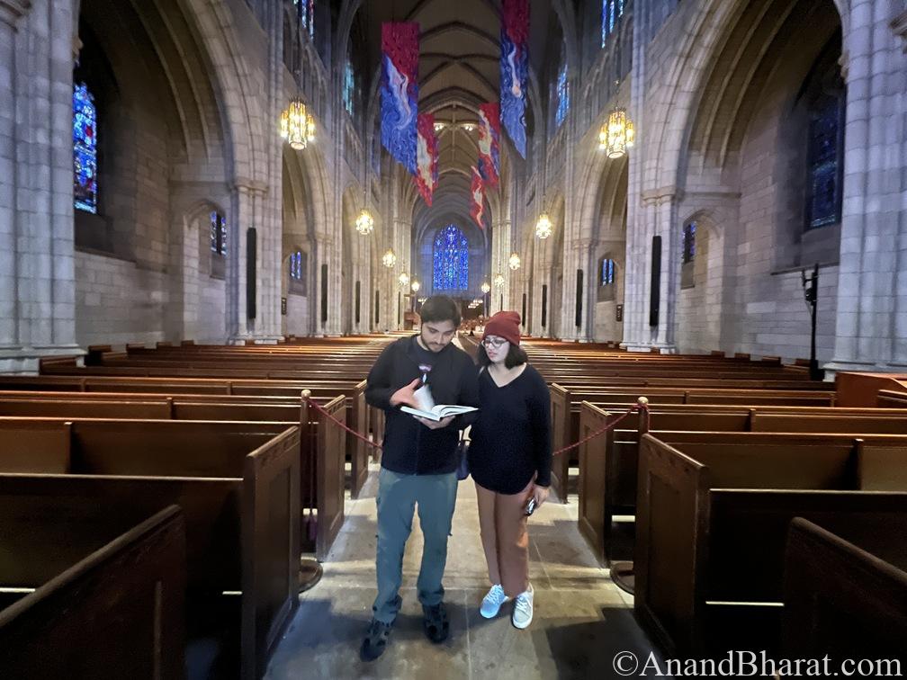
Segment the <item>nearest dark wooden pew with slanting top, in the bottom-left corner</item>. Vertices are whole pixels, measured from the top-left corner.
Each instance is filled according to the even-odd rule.
[[[0,508],[4,503],[0,500]],[[36,510],[53,510],[53,499],[44,503]],[[52,524],[60,519],[45,517]],[[101,523],[110,528],[109,520],[95,520],[91,545],[104,536]],[[31,538],[45,536],[39,532]],[[180,509],[161,510],[104,540],[34,593],[0,610],[0,675],[185,677],[186,537]],[[8,549],[4,543],[0,553]]]

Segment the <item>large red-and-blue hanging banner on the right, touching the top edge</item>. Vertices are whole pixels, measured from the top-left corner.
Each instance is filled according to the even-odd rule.
[[[501,122],[526,158],[526,81],[529,75],[529,0],[502,0]]]

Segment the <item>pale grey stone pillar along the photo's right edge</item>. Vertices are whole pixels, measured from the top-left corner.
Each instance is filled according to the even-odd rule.
[[[907,365],[907,13],[852,4],[842,58],[847,83],[844,205],[832,370]],[[893,280],[893,284],[892,284]]]

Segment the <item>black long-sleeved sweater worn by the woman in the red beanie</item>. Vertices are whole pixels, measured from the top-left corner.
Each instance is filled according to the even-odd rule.
[[[478,418],[470,432],[469,471],[480,486],[519,493],[535,483],[551,484],[551,397],[531,365],[498,387],[488,370],[479,375]]]

